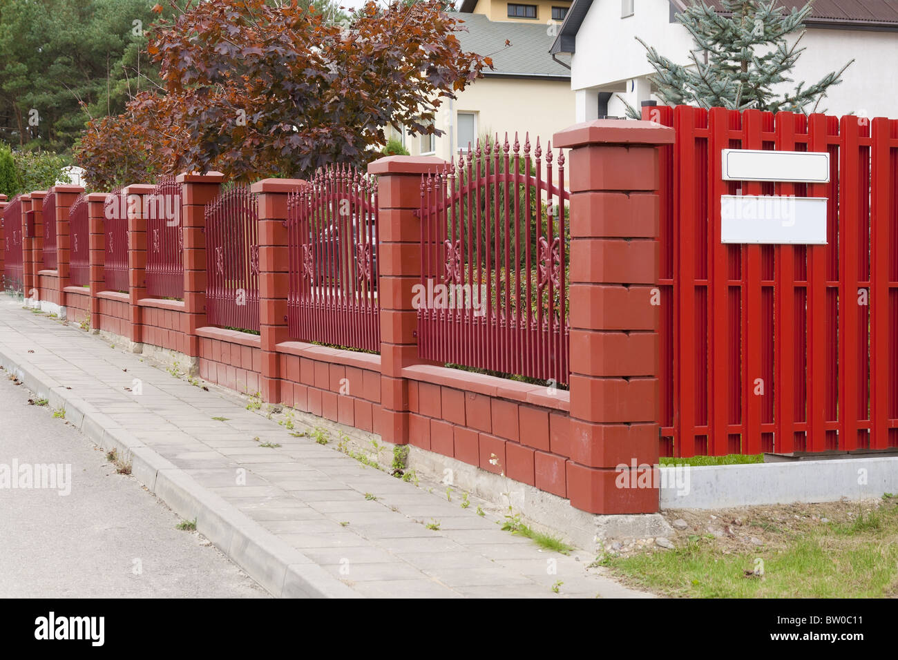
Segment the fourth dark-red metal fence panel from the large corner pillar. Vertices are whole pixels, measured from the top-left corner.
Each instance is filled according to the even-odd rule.
[[[164,177],[150,194],[146,218],[146,293],[154,298],[184,297],[184,232],[180,222],[181,185]]]

